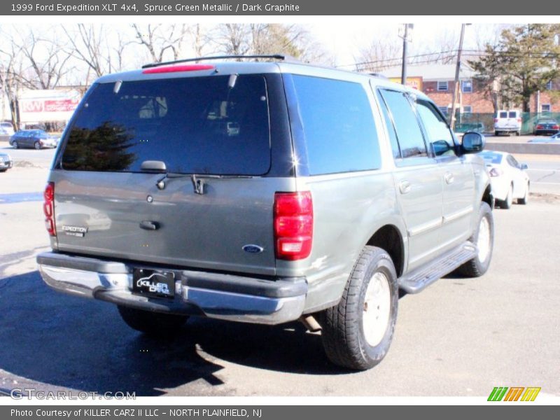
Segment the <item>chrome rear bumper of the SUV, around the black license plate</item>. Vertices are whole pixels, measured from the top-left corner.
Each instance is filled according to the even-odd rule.
[[[55,290],[148,311],[208,316],[229,321],[278,324],[303,312],[303,278],[253,279],[190,270],[175,272],[173,299],[132,293],[132,266],[60,253],[38,255],[39,271]]]

